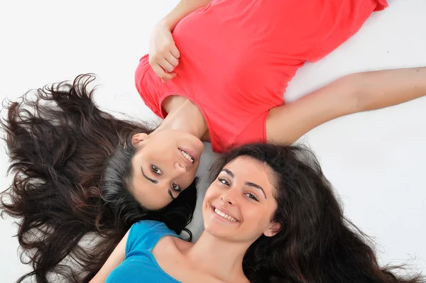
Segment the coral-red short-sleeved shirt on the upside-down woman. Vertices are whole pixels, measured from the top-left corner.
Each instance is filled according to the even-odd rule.
[[[136,88],[161,118],[163,100],[185,96],[202,111],[215,152],[266,142],[268,111],[284,104],[297,69],[354,35],[386,0],[213,0],[178,23],[177,77],[163,84],[142,57]]]

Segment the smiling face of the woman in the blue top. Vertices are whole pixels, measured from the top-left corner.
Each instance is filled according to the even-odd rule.
[[[271,221],[277,207],[271,181],[271,168],[252,157],[229,162],[204,197],[204,231],[247,243],[278,233],[279,224]]]

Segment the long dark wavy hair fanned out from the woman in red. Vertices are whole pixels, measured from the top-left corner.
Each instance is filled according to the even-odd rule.
[[[153,128],[101,111],[94,88],[89,91],[94,79],[80,75],[4,103],[1,126],[13,182],[0,208],[21,218],[18,241],[29,257],[21,261],[33,266],[18,282],[29,276],[48,282],[51,273],[88,282],[136,221],[162,221],[181,233],[192,220],[196,181],[160,211],[133,198],[131,136]]]

